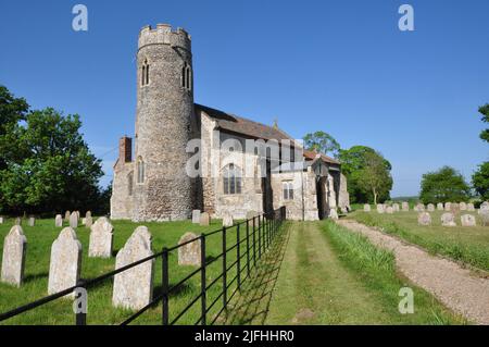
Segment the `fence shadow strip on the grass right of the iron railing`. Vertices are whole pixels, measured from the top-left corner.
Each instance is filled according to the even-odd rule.
[[[240,295],[228,305],[227,317],[223,317],[220,323],[226,325],[265,323],[289,234],[289,227],[285,225],[272,248],[263,255],[260,262],[256,262],[258,267],[252,269],[250,277],[242,284]]]

